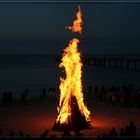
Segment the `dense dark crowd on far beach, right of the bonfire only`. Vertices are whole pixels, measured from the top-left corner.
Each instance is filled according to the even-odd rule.
[[[122,107],[140,108],[140,89],[134,88],[132,85],[123,86],[121,88],[111,87],[95,87],[89,86],[88,96],[92,99],[108,102],[109,104],[119,104]]]

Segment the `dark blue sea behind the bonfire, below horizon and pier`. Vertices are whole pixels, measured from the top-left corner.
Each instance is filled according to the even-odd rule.
[[[55,55],[0,55],[0,99],[3,92],[11,90],[14,98],[28,88],[31,97],[38,97],[41,90],[56,88],[59,93],[60,77],[65,76],[59,68]],[[83,93],[92,86],[118,86],[132,84],[140,87],[140,71],[83,65]]]

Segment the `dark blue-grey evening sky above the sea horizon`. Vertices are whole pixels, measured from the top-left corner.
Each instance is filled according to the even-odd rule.
[[[77,3],[0,3],[0,54],[61,54],[73,37],[85,54],[140,53],[140,4],[81,3],[83,33],[71,26]]]

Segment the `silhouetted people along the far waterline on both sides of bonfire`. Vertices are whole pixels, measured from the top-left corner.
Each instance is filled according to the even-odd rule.
[[[84,96],[86,100],[97,99],[102,102],[107,102],[112,105],[119,104],[122,107],[137,107],[140,108],[140,88],[134,88],[132,85],[123,86],[123,87],[97,87],[94,88],[89,86],[88,92]],[[20,103],[27,105],[29,102],[30,90],[28,88],[24,89],[20,94]],[[43,88],[39,93],[39,102],[43,103],[43,100],[46,98],[56,99],[59,96],[58,91],[55,88]],[[13,102],[13,93],[12,91],[3,92],[3,105],[8,106]]]

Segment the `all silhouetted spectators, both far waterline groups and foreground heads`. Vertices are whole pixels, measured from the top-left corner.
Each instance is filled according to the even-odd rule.
[[[48,93],[53,95],[52,97],[56,96],[56,89],[55,88],[43,88],[39,93],[39,101],[40,104],[43,102],[44,99],[48,98]],[[53,93],[53,94],[52,94]],[[26,88],[21,92],[20,95],[20,102],[23,105],[28,105],[29,102],[29,94],[30,90]],[[112,106],[120,105],[121,107],[137,107],[140,108],[140,89],[134,88],[132,85],[123,86],[123,87],[92,87],[89,86],[88,94],[86,95],[87,99],[96,99],[101,102],[107,102]],[[55,97],[56,98],[56,97]],[[2,98],[4,106],[8,106],[13,102],[13,93],[11,91],[5,91],[3,93]],[[0,137],[31,137],[30,134],[24,134],[23,131],[20,131],[19,134],[15,134],[14,132],[10,131],[9,134],[4,134],[2,129],[0,129]],[[77,132],[75,136],[81,136],[82,133]],[[113,127],[110,132],[103,133],[98,135],[97,137],[135,137],[136,136],[136,126],[133,121],[130,121],[128,125],[125,127],[120,128],[119,131],[115,127]],[[39,137],[55,137],[55,135],[49,135],[49,130],[46,129]],[[62,137],[73,137],[69,132],[63,133]]]

